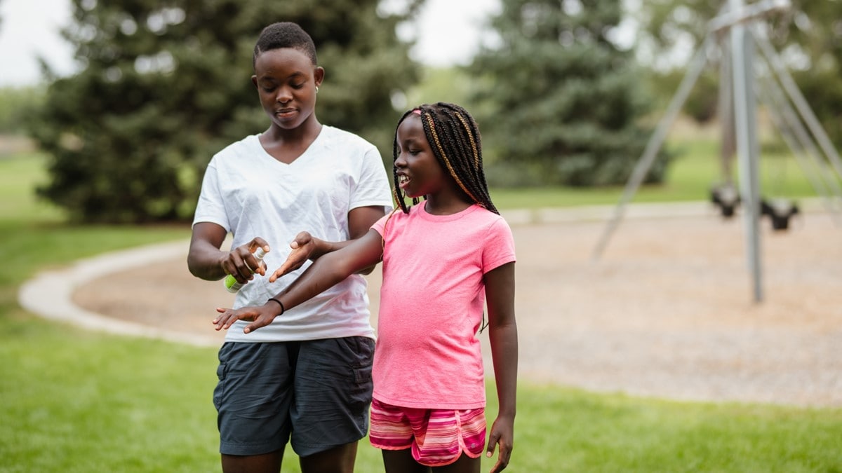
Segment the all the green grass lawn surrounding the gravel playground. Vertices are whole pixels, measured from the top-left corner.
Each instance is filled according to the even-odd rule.
[[[695,155],[676,162],[669,184],[643,189],[640,199],[706,199],[716,176],[706,148],[693,143]],[[41,269],[185,238],[189,227],[68,226],[60,210],[31,197],[43,178],[37,153],[0,159],[0,472],[220,470],[215,348],[85,332],[26,313],[16,300]],[[512,208],[613,204],[612,192],[494,195]],[[488,392],[493,416],[493,385]],[[664,401],[521,381],[515,437],[511,471],[842,472],[842,409]],[[379,452],[364,441],[357,465],[381,471]],[[483,460],[482,470],[491,465]],[[299,471],[289,450],[284,471]]]

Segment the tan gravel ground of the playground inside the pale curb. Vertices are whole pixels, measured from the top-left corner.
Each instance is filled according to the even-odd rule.
[[[520,377],[679,400],[842,406],[842,227],[822,214],[788,231],[768,223],[760,303],[738,218],[626,219],[599,261],[602,221],[513,224]],[[72,299],[218,344],[210,320],[232,295],[178,258],[96,279]]]

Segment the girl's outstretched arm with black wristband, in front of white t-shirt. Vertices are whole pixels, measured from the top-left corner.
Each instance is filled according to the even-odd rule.
[[[290,258],[296,258],[294,253],[290,254]],[[242,307],[236,311],[217,308],[216,311],[220,312],[220,315],[213,320],[213,323],[216,325],[216,330],[221,330],[231,327],[237,320],[251,321],[252,323],[248,324],[243,331],[246,333],[265,327],[274,320],[274,317],[282,315],[284,311],[321,294],[360,269],[379,263],[382,255],[383,240],[380,233],[370,230],[364,237],[354,240],[348,246],[322,255],[309,268],[306,268],[298,279],[272,299],[267,300],[263,306]],[[284,263],[279,271],[286,265],[287,263]],[[274,275],[277,274],[278,271],[275,271]]]

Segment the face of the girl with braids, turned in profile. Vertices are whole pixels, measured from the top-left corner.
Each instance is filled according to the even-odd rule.
[[[450,175],[435,158],[418,114],[409,114],[397,126],[397,151],[397,183],[407,197],[436,194],[445,188]]]

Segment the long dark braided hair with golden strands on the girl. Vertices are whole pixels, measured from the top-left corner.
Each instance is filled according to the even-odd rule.
[[[397,125],[400,126],[403,120],[406,120],[413,112],[420,112],[424,136],[427,137],[434,156],[447,170],[450,177],[456,180],[462,192],[477,205],[499,214],[497,207],[491,202],[491,195],[488,194],[488,183],[485,181],[485,172],[482,170],[479,127],[471,114],[456,104],[444,102],[424,104],[404,113]],[[392,162],[397,161],[399,152],[396,128],[392,146]],[[403,200],[404,194],[398,185],[397,168],[392,168],[392,175],[395,183],[393,189],[395,201],[403,213],[408,213],[409,208]],[[418,204],[418,198],[413,198],[413,205],[416,204]]]

